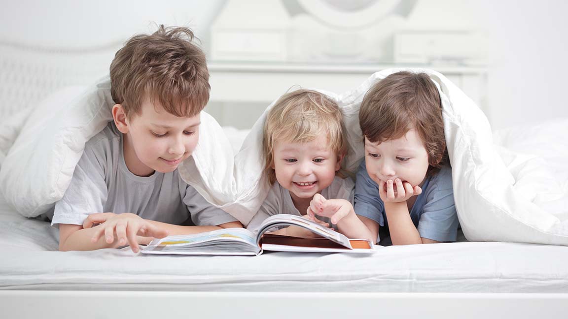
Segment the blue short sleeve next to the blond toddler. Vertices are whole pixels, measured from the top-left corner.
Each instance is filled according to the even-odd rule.
[[[379,197],[379,186],[367,173],[365,160],[363,160],[361,165],[359,165],[355,180],[355,213],[376,221],[380,226],[385,226],[385,220],[383,219],[384,207]]]

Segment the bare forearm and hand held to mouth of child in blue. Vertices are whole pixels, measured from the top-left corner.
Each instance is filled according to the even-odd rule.
[[[406,201],[422,190],[419,186],[412,187],[410,183],[402,182],[399,178],[396,183],[397,194],[394,194],[393,181],[379,183],[379,196],[385,203],[385,213],[389,221],[389,230],[392,245],[429,244],[437,241],[421,238],[420,233],[412,223]]]

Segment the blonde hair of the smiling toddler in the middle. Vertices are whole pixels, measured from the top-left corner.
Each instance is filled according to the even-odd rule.
[[[272,168],[275,141],[309,142],[326,134],[333,152],[343,157],[348,150],[345,132],[339,106],[324,94],[300,89],[282,95],[269,111],[264,124],[262,145],[268,181],[270,184],[276,181]],[[336,174],[344,177],[342,171]]]

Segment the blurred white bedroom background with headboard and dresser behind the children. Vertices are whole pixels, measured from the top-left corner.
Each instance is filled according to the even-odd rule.
[[[394,66],[448,76],[492,128],[568,116],[568,2],[1,0],[1,116],[108,73],[156,24],[192,28],[222,125],[250,128],[290,87],[343,93]]]

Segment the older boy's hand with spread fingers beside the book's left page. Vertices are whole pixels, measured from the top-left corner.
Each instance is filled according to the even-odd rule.
[[[119,245],[128,245],[132,251],[137,253],[140,250],[139,238],[140,236],[164,238],[168,236],[168,231],[161,229],[156,225],[151,224],[149,221],[132,213],[94,213],[89,215],[83,222],[83,228],[90,228],[94,224],[98,228],[93,237],[92,242],[98,241],[103,234],[105,241],[108,244],[118,240]]]

